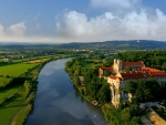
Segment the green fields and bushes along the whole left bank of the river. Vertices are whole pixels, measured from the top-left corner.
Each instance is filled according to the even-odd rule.
[[[1,125],[24,124],[33,107],[38,90],[37,79],[43,65],[53,60],[71,56],[66,51],[65,54],[53,51],[54,54],[50,53],[50,55],[48,53],[39,55],[40,52],[38,49],[32,52],[23,49],[0,51]]]

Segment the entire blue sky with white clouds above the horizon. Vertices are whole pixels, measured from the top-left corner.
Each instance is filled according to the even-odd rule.
[[[166,41],[166,0],[0,0],[0,41]]]

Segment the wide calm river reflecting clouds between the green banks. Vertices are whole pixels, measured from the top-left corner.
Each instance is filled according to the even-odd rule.
[[[34,107],[25,125],[107,125],[100,107],[79,95],[64,63],[70,59],[48,63],[38,77]]]

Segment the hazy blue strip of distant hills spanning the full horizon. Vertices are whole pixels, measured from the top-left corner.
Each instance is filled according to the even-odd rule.
[[[59,48],[59,49],[144,49],[144,50],[154,50],[154,49],[166,49],[166,42],[153,41],[153,40],[128,40],[128,41],[105,41],[105,42],[72,42],[72,43],[0,43],[0,49],[13,49],[13,48]]]

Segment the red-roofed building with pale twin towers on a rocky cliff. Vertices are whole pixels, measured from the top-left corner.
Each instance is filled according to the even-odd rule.
[[[125,71],[126,67],[131,70]],[[122,62],[121,60],[114,60],[114,64],[108,67],[100,67],[98,74],[100,77],[103,76],[104,71],[110,70],[113,74],[107,76],[107,83],[112,92],[112,104],[115,107],[118,107],[120,97],[125,101],[131,101],[132,94],[124,93],[121,91],[126,87],[126,82],[137,81],[137,80],[147,80],[154,77],[157,82],[166,82],[166,73],[160,70],[146,67],[145,64],[141,62]]]

